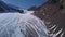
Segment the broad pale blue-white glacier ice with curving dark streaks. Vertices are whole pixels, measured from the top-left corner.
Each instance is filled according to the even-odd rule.
[[[48,29],[31,14],[0,13],[0,37],[48,37]]]

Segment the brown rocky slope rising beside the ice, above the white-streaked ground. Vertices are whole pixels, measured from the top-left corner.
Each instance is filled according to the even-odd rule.
[[[65,32],[65,0],[49,0],[36,10],[35,15],[46,22],[56,24]]]

